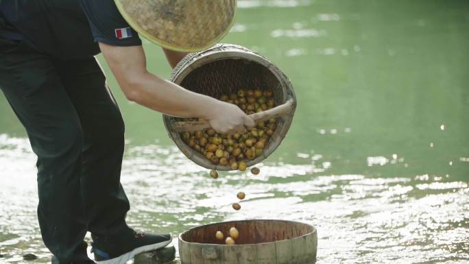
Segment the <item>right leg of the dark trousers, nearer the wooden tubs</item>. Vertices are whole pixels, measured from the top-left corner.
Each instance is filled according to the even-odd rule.
[[[84,135],[82,197],[88,230],[115,235],[126,228],[130,206],[120,183],[124,124],[106,77],[94,58],[60,62],[60,78]]]

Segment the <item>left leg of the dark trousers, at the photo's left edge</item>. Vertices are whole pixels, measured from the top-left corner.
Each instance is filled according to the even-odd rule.
[[[0,41],[0,88],[38,156],[38,219],[43,241],[60,263],[86,261],[80,119],[53,60],[26,47],[7,49],[5,43]]]

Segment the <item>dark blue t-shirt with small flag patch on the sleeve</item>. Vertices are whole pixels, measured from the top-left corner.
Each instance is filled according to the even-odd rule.
[[[62,60],[96,55],[97,42],[141,45],[112,0],[0,0],[0,38]]]

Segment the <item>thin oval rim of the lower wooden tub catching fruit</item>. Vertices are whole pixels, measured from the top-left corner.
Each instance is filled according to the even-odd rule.
[[[281,219],[245,219],[245,220],[222,221],[222,222],[217,222],[217,223],[212,223],[212,224],[204,224],[202,226],[195,226],[195,227],[193,227],[189,230],[181,232],[178,236],[178,241],[180,241],[181,243],[188,243],[188,244],[194,244],[194,245],[217,245],[217,246],[222,246],[222,247],[230,247],[230,246],[233,246],[233,245],[189,242],[189,241],[185,241],[184,239],[182,239],[182,235],[186,234],[187,232],[191,232],[192,230],[195,230],[197,228],[205,228],[206,226],[214,226],[214,225],[217,225],[217,224],[228,224],[228,223],[234,223],[234,222],[239,223],[239,222],[247,222],[247,221],[283,221],[283,222],[294,223],[294,224],[304,224],[306,226],[310,226],[311,228],[313,228],[313,231],[308,232],[304,235],[300,235],[298,237],[306,237],[306,236],[315,235],[315,234],[317,235],[317,229],[313,225],[306,224],[306,223],[300,222],[300,221],[281,220]],[[292,237],[291,239],[296,239],[298,237]],[[287,241],[287,240],[290,240],[290,239],[281,239],[281,240],[270,241],[270,242],[261,242],[261,243],[239,244],[238,246],[243,246],[243,245],[265,245],[265,244],[269,244],[269,243],[276,243],[278,241]],[[235,244],[235,245],[237,245],[237,244]]]

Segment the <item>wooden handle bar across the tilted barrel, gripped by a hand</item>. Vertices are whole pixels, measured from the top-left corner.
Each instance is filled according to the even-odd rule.
[[[293,110],[295,103],[293,99],[289,99],[285,104],[281,104],[280,106],[276,106],[269,110],[265,110],[262,112],[256,112],[252,115],[249,115],[252,120],[255,122],[261,122],[272,118],[282,117],[287,115]],[[210,123],[208,121],[178,121],[173,122],[173,130],[176,132],[192,132],[192,131],[199,131],[199,130],[206,130],[211,128]]]

